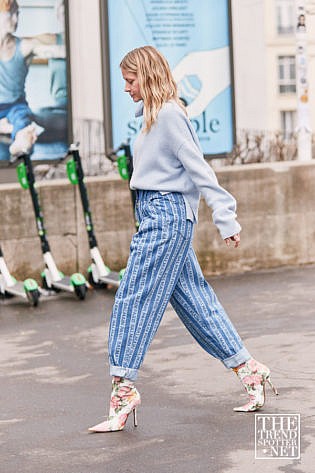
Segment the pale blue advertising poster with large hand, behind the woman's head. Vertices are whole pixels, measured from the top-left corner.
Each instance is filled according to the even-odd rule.
[[[101,0],[107,146],[133,143],[141,122],[124,94],[119,63],[151,45],[167,58],[179,95],[208,156],[235,142],[229,0]]]

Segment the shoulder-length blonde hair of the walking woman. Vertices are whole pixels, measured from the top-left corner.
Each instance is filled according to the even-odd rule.
[[[142,46],[130,51],[120,63],[120,67],[137,74],[139,89],[143,99],[145,127],[149,131],[156,121],[162,105],[174,100],[185,111],[177,92],[177,85],[165,57],[152,46]]]

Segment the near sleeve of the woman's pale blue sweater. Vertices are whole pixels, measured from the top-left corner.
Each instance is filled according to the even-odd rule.
[[[239,233],[241,226],[236,220],[236,200],[219,185],[213,169],[204,159],[188,118],[181,111],[169,122],[168,133],[177,147],[174,149],[177,159],[212,209],[212,219],[221,237],[224,239]]]

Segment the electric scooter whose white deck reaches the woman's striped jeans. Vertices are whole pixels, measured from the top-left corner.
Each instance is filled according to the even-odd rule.
[[[106,288],[108,285],[118,287],[122,277],[121,272],[111,271],[105,265],[97,246],[78,143],[70,146],[67,157],[69,158],[70,156],[71,158],[67,160],[66,164],[67,175],[71,184],[79,186],[92,259],[92,264],[88,268],[88,281],[95,289]]]

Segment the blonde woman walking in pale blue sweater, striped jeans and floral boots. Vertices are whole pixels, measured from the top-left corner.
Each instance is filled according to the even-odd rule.
[[[131,412],[136,425],[140,394],[134,381],[169,302],[202,348],[237,373],[249,400],[234,410],[255,411],[264,404],[266,382],[272,386],[270,370],[244,347],[192,248],[200,194],[225,243],[239,245],[235,199],[204,160],[162,54],[151,46],[137,48],[120,67],[125,91],[140,102],[136,115],[143,115],[130,182],[140,226],[111,315],[109,417],[89,430],[122,430]]]

